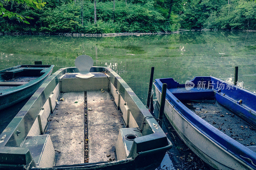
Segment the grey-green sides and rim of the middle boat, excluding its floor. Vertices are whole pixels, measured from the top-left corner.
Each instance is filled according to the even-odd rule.
[[[42,84],[0,135],[0,168],[154,169],[161,163],[166,150],[172,144],[148,109],[124,80],[110,68],[92,67],[90,72],[103,72],[107,77],[104,77],[104,80],[99,77],[90,78],[90,80],[68,78],[69,74],[67,73],[78,73],[76,67],[68,67],[59,69]],[[97,83],[97,81],[99,82]],[[42,134],[46,126],[44,124],[45,120],[47,124],[47,118],[56,107],[55,100],[58,99],[60,91],[99,90],[102,86],[100,85],[101,81],[108,82],[107,88],[111,92],[118,110],[123,114],[125,126],[129,127],[122,128],[120,131],[123,131],[123,133],[126,130],[130,132],[133,127],[138,127],[141,137],[135,138],[130,142],[128,144],[130,147],[128,149],[129,152],[125,152],[124,136],[122,136],[123,133],[119,132],[119,139],[117,139],[116,144],[118,160],[116,161],[52,167],[54,148],[52,147],[51,139],[47,135],[40,134]],[[26,142],[30,140],[29,138],[38,138],[40,136],[42,136],[42,139],[36,140],[38,140],[38,144],[44,144],[44,151],[38,151],[42,155],[41,162],[38,162],[35,161],[35,153],[30,152],[28,147],[24,147],[24,145],[29,145],[29,142]],[[33,147],[39,146],[33,145]],[[124,148],[124,151],[121,148]],[[48,156],[46,156],[47,154]]]

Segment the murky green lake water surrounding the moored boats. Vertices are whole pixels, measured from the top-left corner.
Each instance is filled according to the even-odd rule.
[[[256,92],[255,32],[181,32],[171,35],[122,37],[0,36],[0,70],[20,64],[75,66],[77,56],[87,54],[94,66],[116,71],[146,104],[150,68],[154,79],[173,77],[180,83],[195,76],[214,76],[233,82],[238,66],[239,85]],[[167,124],[166,134],[175,133]],[[171,134],[172,133],[172,134]],[[178,137],[176,137],[178,138]],[[204,164],[178,139],[159,169],[204,168]],[[182,148],[182,149],[181,149]],[[184,150],[186,153],[184,155]],[[193,161],[190,156],[192,155]],[[190,160],[190,161],[188,161]],[[191,168],[191,167],[190,167]]]

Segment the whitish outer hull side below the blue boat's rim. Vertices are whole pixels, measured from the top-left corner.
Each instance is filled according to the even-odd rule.
[[[157,88],[156,97],[160,103],[161,92]],[[165,101],[164,114],[184,143],[208,165],[215,169],[252,169],[200,132],[168,100]]]

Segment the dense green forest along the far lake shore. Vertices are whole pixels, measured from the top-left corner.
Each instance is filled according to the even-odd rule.
[[[256,30],[252,0],[0,0],[0,15],[4,33]]]

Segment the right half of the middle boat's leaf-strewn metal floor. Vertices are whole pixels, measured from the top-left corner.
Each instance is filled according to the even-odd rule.
[[[125,128],[121,113],[107,90],[87,91],[87,106],[89,162],[115,160],[117,135]]]

